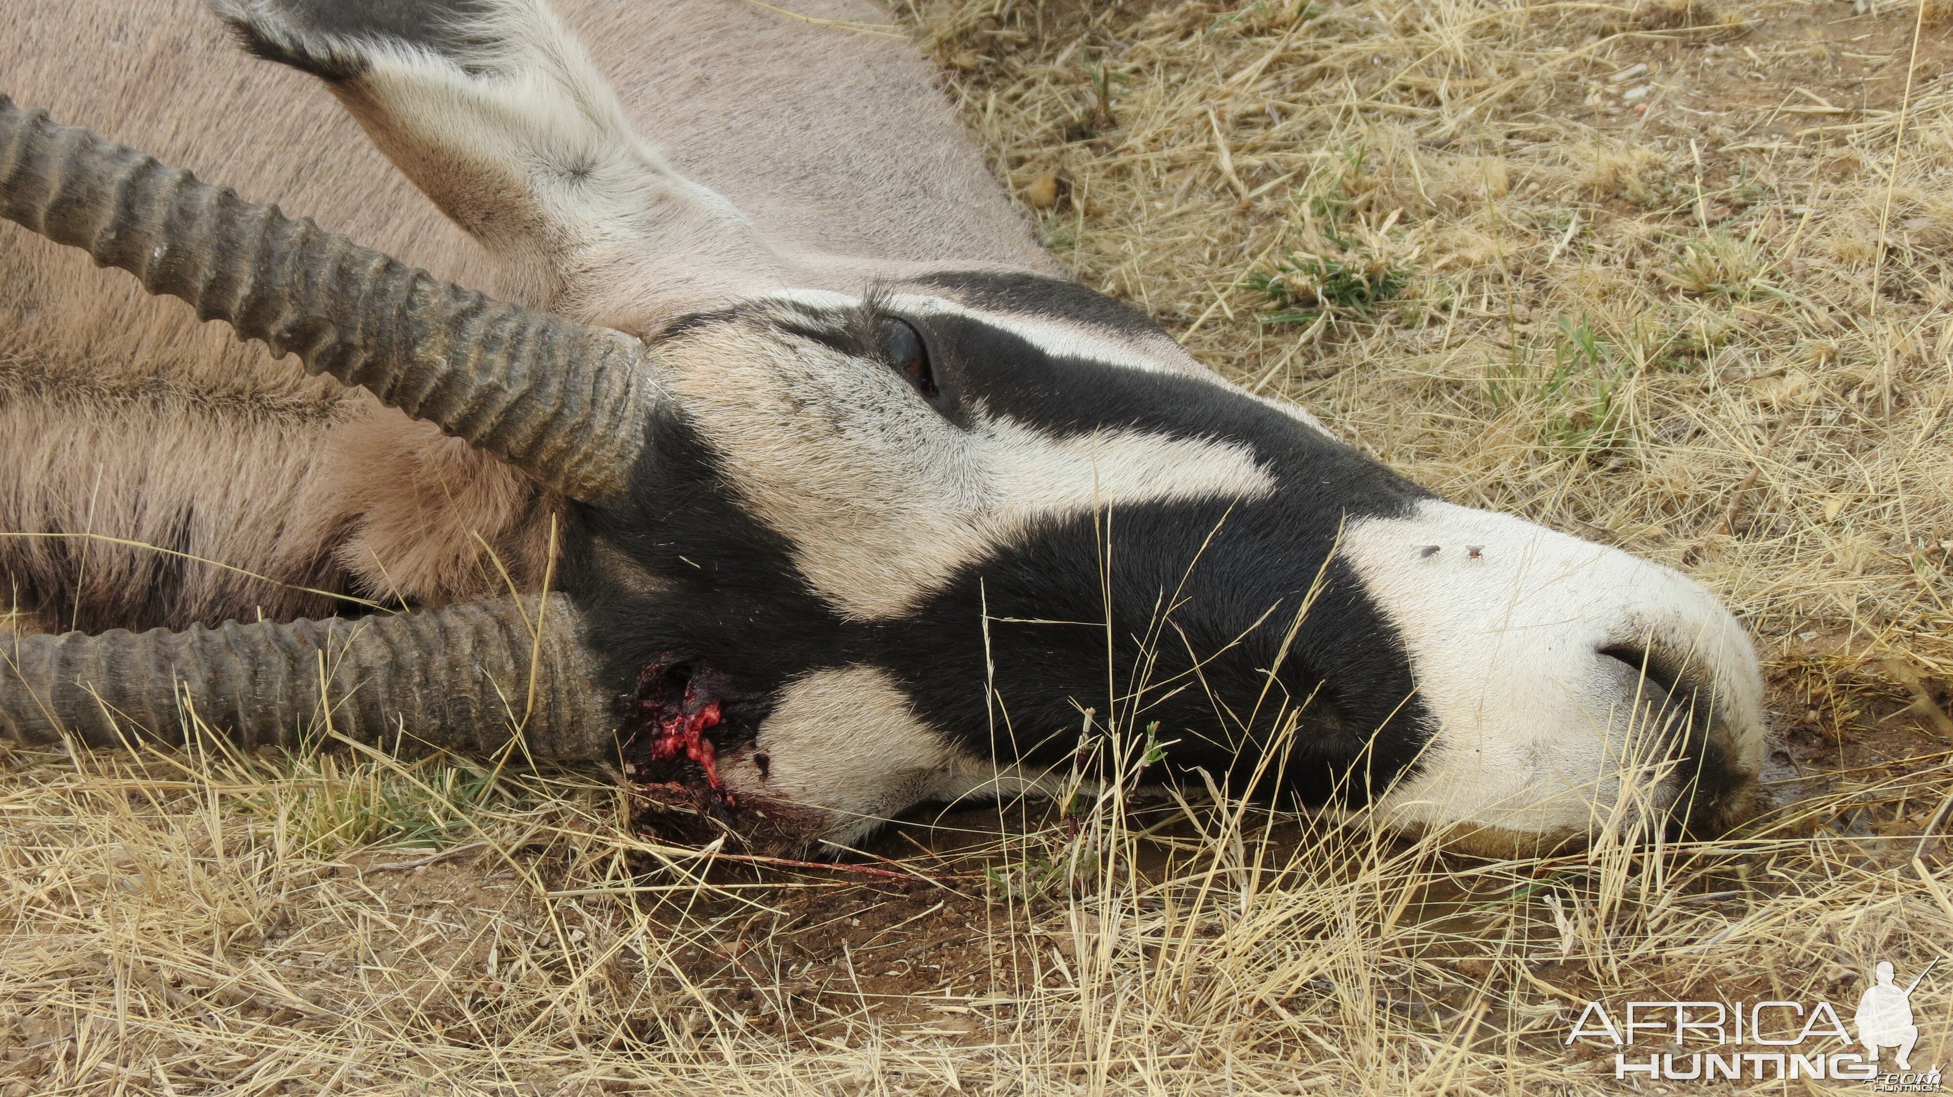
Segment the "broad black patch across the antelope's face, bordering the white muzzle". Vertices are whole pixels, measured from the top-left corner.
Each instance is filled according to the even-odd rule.
[[[976,753],[992,750],[994,726],[1008,736],[1000,752],[1014,744],[1041,765],[1060,765],[1076,748],[1080,711],[1092,707],[1100,720],[1115,711],[1131,736],[1158,722],[1162,740],[1180,740],[1170,767],[1234,773],[1236,789],[1277,720],[1312,697],[1275,785],[1324,802],[1348,781],[1348,798],[1363,802],[1416,763],[1432,720],[1412,693],[1396,630],[1346,566],[1330,564],[1295,625],[1336,533],[1299,517],[1283,498],[1115,508],[1103,541],[1113,560],[1111,656],[1100,519],[1049,523],[887,627],[875,660],[926,722]],[[1000,709],[986,705],[990,666]]]

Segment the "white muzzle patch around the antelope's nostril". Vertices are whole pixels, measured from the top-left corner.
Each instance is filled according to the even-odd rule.
[[[1664,736],[1635,711],[1639,673],[1598,654],[1609,646],[1707,670],[1728,757],[1750,773],[1762,763],[1756,652],[1680,572],[1443,502],[1351,523],[1342,552],[1400,629],[1439,722],[1424,771],[1385,796],[1385,818],[1564,835],[1666,806]]]

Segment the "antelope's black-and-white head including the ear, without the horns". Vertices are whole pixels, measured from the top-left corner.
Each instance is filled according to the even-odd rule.
[[[1687,580],[1443,504],[1082,287],[768,238],[637,135],[539,0],[211,4],[324,76],[504,297],[658,336],[670,398],[629,504],[580,511],[572,591],[646,765],[709,769],[715,808],[855,835],[1035,785],[1084,711],[1158,724],[1162,775],[1219,777],[1299,711],[1269,785],[1406,828],[1525,843],[1740,810],[1756,658]],[[791,125],[885,137],[842,121]],[[945,135],[898,133],[900,162],[963,156]],[[900,201],[961,185],[918,180]],[[957,223],[879,254],[1008,256],[988,236],[1021,228]]]

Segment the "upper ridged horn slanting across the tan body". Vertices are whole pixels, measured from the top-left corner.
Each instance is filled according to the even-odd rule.
[[[4,94],[0,217],[574,500],[623,492],[658,398],[644,344],[623,332],[461,289]]]

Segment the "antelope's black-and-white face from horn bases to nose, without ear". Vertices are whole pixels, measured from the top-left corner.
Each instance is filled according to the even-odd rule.
[[[1754,656],[1687,580],[1443,504],[1047,285],[1057,314],[1023,275],[955,275],[660,336],[682,410],[631,508],[590,515],[578,586],[619,691],[646,666],[719,683],[734,800],[848,841],[998,765],[1035,785],[1086,709],[1156,724],[1162,777],[1240,787],[1297,714],[1264,791],[1539,839],[1639,789],[1603,765],[1646,753],[1627,652],[1697,642],[1713,728],[1756,726]],[[1654,738],[1717,781],[1748,750]],[[1664,808],[1685,783],[1654,785]]]

